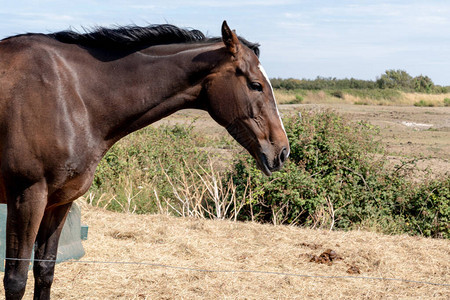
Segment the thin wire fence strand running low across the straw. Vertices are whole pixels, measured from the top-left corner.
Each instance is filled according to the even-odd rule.
[[[5,261],[6,260],[31,261],[31,259],[23,259],[23,258],[22,259],[21,258],[5,258],[4,260]],[[55,261],[54,260],[34,259],[33,262],[55,262]],[[149,267],[154,267],[154,268],[165,268],[165,269],[203,272],[203,273],[247,273],[247,274],[289,276],[289,277],[302,277],[302,278],[361,279],[361,280],[377,280],[377,281],[396,281],[396,282],[403,282],[403,283],[416,283],[416,284],[424,284],[424,285],[450,287],[450,283],[436,283],[436,282],[429,282],[429,281],[410,280],[410,279],[403,279],[403,278],[389,278],[389,277],[350,276],[350,275],[345,275],[345,276],[344,275],[339,275],[339,276],[308,275],[308,274],[296,274],[296,273],[286,273],[286,272],[277,272],[277,271],[258,271],[258,270],[213,270],[213,269],[172,266],[172,265],[165,265],[165,264],[158,264],[158,263],[151,263],[151,262],[97,261],[97,260],[67,260],[64,262],[80,263],[80,264],[103,264],[103,265],[139,265],[139,266],[149,266]]]

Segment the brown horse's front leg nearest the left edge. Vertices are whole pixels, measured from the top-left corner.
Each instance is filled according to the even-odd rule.
[[[9,185],[6,194],[5,298],[22,299],[33,244],[47,205],[47,185],[45,181],[26,187]]]

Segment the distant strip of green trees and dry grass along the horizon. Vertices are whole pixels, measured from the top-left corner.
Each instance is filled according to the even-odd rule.
[[[360,105],[450,105],[450,98],[444,98],[442,102],[441,96],[450,93],[450,86],[436,85],[424,75],[412,77],[403,70],[386,70],[376,80],[272,78],[271,83],[278,101],[285,104],[345,101]],[[319,93],[325,93],[326,97],[318,99]],[[292,100],[293,94],[301,95],[304,101]]]

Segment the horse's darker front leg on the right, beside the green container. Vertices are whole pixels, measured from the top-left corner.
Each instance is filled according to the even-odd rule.
[[[36,238],[34,250],[34,299],[50,299],[58,241],[72,203],[46,211]]]

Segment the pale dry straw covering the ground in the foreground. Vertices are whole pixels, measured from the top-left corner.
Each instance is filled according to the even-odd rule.
[[[148,262],[209,270],[450,282],[450,241],[352,231],[132,215],[82,205],[84,261]],[[331,266],[311,255],[334,250]],[[350,275],[356,267],[361,274]],[[30,272],[30,279],[32,273]],[[26,298],[32,297],[29,280]],[[65,262],[53,299],[448,299],[449,286],[358,278],[208,273],[149,265]]]

